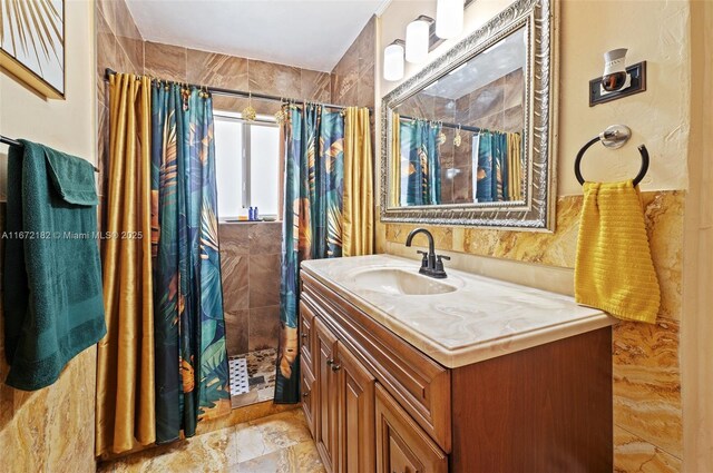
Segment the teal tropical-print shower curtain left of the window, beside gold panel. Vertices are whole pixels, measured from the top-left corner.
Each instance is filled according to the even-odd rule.
[[[231,408],[218,253],[213,104],[157,82],[152,97],[156,442]]]

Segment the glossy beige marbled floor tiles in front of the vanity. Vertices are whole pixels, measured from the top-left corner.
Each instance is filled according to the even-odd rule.
[[[101,473],[319,473],[302,410],[246,422],[99,465]]]

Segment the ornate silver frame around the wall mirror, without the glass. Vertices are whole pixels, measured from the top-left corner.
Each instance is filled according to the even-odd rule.
[[[382,99],[381,220],[428,225],[468,225],[554,231],[556,203],[557,2],[517,0],[482,28],[453,46]],[[522,28],[527,38],[525,198],[514,203],[390,207],[389,173],[392,110],[399,104],[484,50]]]

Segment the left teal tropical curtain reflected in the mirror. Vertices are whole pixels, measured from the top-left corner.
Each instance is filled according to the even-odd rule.
[[[441,126],[424,120],[401,120],[399,124],[401,156],[409,161],[406,204],[440,204],[441,164],[439,137]]]

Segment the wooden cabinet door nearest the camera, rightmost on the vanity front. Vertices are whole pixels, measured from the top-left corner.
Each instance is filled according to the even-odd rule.
[[[379,384],[377,473],[447,473],[448,457]]]

